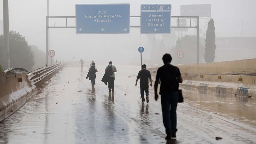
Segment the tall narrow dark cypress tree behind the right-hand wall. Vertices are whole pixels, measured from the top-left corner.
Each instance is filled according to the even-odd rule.
[[[208,22],[208,27],[206,31],[205,39],[205,53],[204,60],[205,62],[213,62],[215,59],[215,27],[213,18]]]

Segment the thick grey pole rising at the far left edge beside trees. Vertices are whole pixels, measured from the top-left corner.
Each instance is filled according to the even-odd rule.
[[[9,49],[9,8],[8,0],[3,0],[4,10],[4,70],[10,68],[10,49]]]

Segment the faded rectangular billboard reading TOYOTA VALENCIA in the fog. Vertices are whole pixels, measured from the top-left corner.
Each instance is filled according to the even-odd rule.
[[[211,4],[180,5],[180,16],[211,16]]]

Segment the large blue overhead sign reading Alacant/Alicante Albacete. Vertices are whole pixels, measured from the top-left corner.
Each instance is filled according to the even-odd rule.
[[[76,33],[130,33],[129,4],[76,4]]]

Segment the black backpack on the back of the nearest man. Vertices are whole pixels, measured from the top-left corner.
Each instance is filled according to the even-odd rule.
[[[161,86],[164,84],[163,87],[165,87],[165,89],[169,89],[170,92],[177,92],[179,83],[176,75],[177,68],[165,70],[161,76]]]

